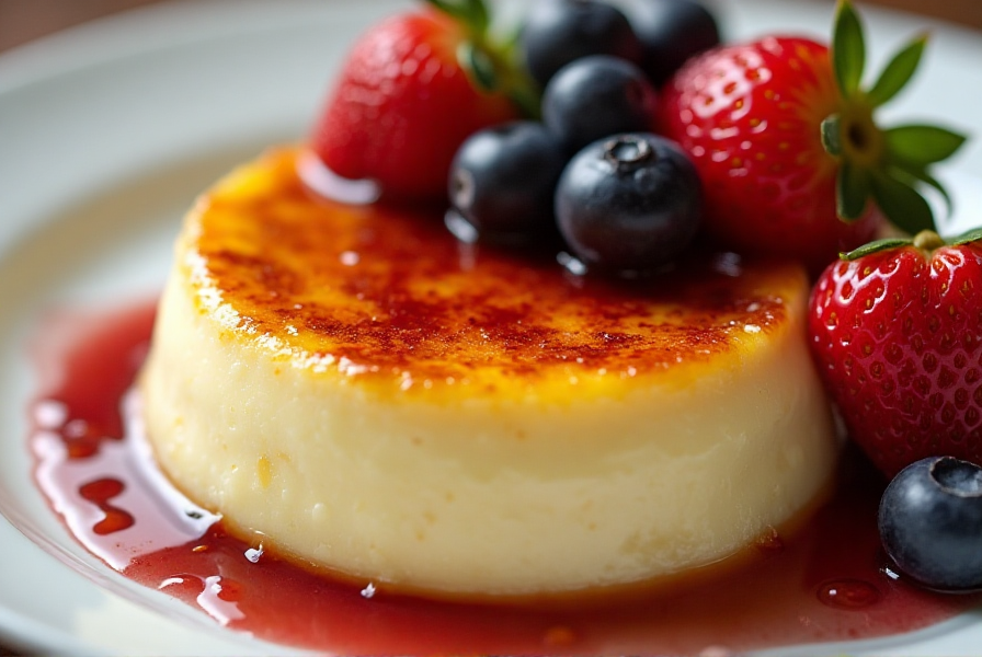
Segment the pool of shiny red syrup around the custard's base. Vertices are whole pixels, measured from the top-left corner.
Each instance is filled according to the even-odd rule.
[[[341,584],[228,535],[169,489],[129,393],[152,321],[147,303],[62,314],[41,332],[35,479],[78,541],[111,567],[259,638],[342,654],[739,652],[910,632],[980,601],[927,592],[889,572],[875,522],[883,482],[848,450],[832,499],[803,529],[686,586],[561,610],[427,601],[385,586],[369,596],[367,581]]]

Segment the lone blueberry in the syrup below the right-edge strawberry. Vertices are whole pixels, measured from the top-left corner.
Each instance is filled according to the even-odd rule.
[[[951,457],[912,463],[883,492],[879,529],[887,554],[914,580],[982,588],[982,468]]]

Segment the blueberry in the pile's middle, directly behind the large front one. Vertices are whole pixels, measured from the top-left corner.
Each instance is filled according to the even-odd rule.
[[[633,64],[609,55],[576,59],[546,85],[543,120],[570,152],[617,132],[652,130],[655,92]]]

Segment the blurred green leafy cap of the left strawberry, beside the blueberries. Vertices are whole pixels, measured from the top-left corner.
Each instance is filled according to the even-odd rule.
[[[535,84],[516,61],[517,33],[499,38],[492,30],[491,11],[484,0],[426,0],[459,23],[466,34],[457,49],[457,61],[471,84],[486,93],[504,93],[528,117],[539,113]]]

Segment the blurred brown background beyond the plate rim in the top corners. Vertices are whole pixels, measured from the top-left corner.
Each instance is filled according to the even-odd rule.
[[[160,1],[162,0],[0,0],[0,50],[91,19]],[[833,0],[804,1],[831,3]],[[860,2],[922,13],[982,30],[982,0],[860,0]]]

